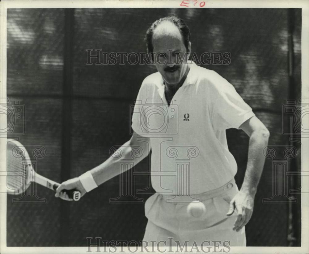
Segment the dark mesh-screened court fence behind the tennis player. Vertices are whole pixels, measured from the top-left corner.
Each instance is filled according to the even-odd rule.
[[[155,72],[146,65],[86,65],[86,49],[145,52],[144,34],[154,20],[177,14],[191,30],[192,51],[230,52],[230,65],[207,65],[230,81],[269,129],[269,145],[289,145],[282,116],[287,99],[301,97],[300,9],[8,9],[7,96],[25,107],[25,146],[44,146],[37,172],[57,182],[77,177],[104,162],[112,146],[130,138],[129,108],[142,80]],[[16,121],[15,130],[23,128]],[[17,133],[17,134],[16,134]],[[14,134],[14,131],[13,131]],[[227,130],[238,163],[241,186],[247,163],[248,137]],[[298,149],[299,145],[294,144]],[[278,153],[280,154],[280,152]],[[273,161],[266,159],[251,221],[248,246],[299,246],[300,195],[297,203],[263,203],[272,196]],[[136,171],[147,171],[149,158]],[[300,170],[300,155],[289,160]],[[135,171],[134,171],[135,172]],[[133,174],[133,170],[126,176]],[[122,179],[122,180],[121,180]],[[110,203],[119,196],[123,176],[115,177],[79,202],[55,199],[37,186],[37,196],[13,203],[7,196],[7,246],[86,246],[86,237],[142,240],[144,203]],[[300,179],[287,178],[300,187]],[[134,178],[134,190],[146,200],[153,191],[149,178]],[[119,183],[121,182],[121,183]],[[121,197],[118,201],[132,201]],[[290,218],[290,219],[289,219]]]

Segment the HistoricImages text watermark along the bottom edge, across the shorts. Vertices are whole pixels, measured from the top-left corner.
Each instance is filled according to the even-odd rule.
[[[199,244],[196,241],[189,242],[185,240],[175,240],[173,237],[167,237],[166,241],[105,241],[102,237],[86,237],[88,250],[86,252],[101,252],[101,253],[226,253],[230,252],[230,241],[205,240]],[[125,247],[126,246],[126,247]],[[91,247],[95,247],[92,248]],[[118,248],[117,248],[118,247]],[[127,251],[124,250],[127,249]]]

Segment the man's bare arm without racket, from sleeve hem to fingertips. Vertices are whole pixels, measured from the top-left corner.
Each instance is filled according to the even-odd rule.
[[[268,144],[269,131],[257,118],[251,117],[239,127],[250,137],[248,163],[243,184],[238,194],[232,199],[227,215],[232,215],[236,209],[238,217],[233,230],[239,231],[251,218],[257,185],[263,171],[265,157],[263,149]]]

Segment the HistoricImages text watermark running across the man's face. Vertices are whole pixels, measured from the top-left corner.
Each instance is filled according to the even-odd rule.
[[[168,49],[166,53],[148,52],[103,52],[102,49],[86,49],[86,65],[154,65],[159,64],[182,64],[188,61],[188,53],[181,55]],[[190,55],[193,62],[198,65],[229,65],[231,63],[230,52],[203,52]]]

